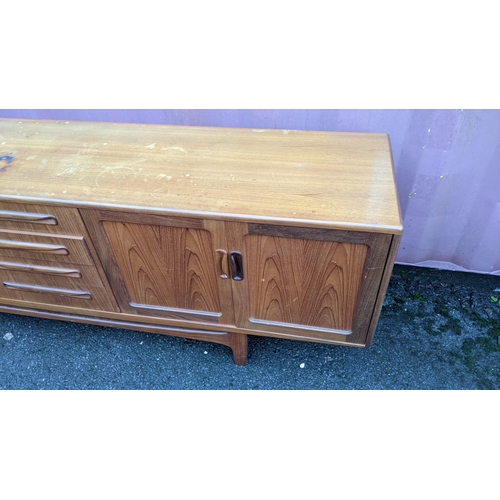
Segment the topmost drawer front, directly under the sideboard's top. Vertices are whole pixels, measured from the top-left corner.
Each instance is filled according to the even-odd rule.
[[[78,209],[0,201],[0,229],[50,234],[84,235]]]

